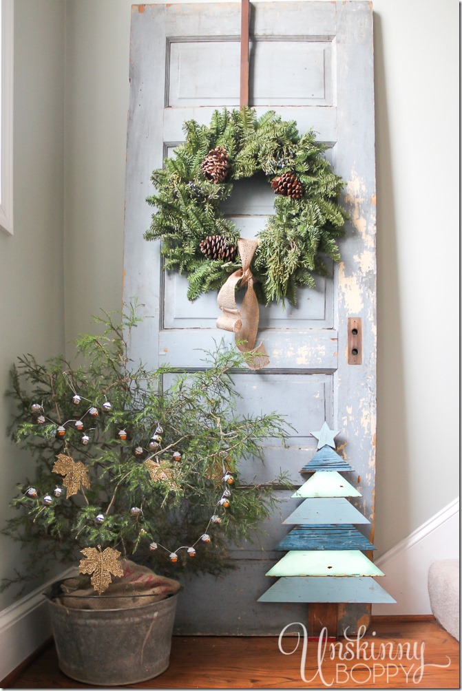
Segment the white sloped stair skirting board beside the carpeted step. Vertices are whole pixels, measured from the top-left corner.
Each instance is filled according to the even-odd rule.
[[[396,605],[372,605],[372,614],[432,614],[427,576],[432,562],[459,558],[459,497],[376,561],[378,581]]]

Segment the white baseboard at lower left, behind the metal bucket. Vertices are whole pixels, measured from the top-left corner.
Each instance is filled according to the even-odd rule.
[[[75,568],[67,569],[0,612],[0,679],[5,679],[50,638],[51,627],[43,592],[55,580],[74,574]]]

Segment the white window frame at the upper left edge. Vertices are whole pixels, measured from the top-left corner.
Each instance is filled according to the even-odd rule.
[[[0,229],[13,234],[13,4],[0,0]]]

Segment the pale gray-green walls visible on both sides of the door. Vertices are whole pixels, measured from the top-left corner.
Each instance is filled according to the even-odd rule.
[[[100,307],[120,308],[130,6],[15,0],[15,236],[0,236],[2,390],[17,353],[59,352]],[[459,493],[459,3],[375,0],[373,8],[382,553]],[[3,428],[7,418],[0,398]],[[3,518],[28,460],[0,438]]]

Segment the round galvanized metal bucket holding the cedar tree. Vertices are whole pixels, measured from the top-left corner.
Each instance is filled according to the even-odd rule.
[[[45,595],[59,669],[71,679],[120,686],[169,666],[177,595],[127,609],[68,608]]]

